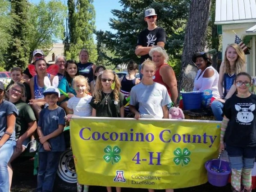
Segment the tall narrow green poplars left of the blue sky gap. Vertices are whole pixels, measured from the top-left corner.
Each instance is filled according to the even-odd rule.
[[[90,61],[96,62],[97,50],[93,41],[95,31],[95,10],[93,0],[68,0],[69,35],[64,42],[68,43],[65,55],[68,59],[78,59],[82,48],[88,50]]]

